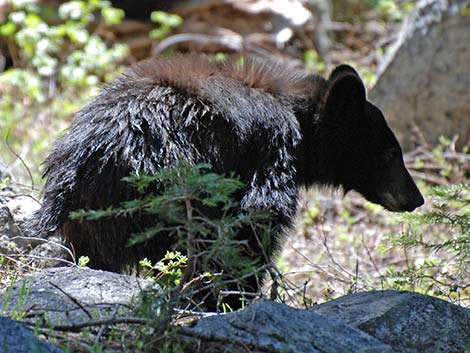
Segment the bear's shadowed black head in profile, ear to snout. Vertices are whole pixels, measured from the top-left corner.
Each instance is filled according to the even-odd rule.
[[[367,101],[352,67],[332,72],[324,104],[321,120],[336,144],[336,183],[390,211],[421,206],[423,196],[405,167],[400,144],[382,112]]]

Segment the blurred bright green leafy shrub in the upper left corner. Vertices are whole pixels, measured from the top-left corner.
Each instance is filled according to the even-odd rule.
[[[16,67],[33,69],[40,77],[58,76],[64,84],[95,85],[97,76],[109,72],[108,65],[127,54],[123,45],[108,48],[95,33],[92,23],[120,23],[124,12],[102,0],[74,0],[63,3],[48,23],[44,8],[31,2],[10,1],[8,20],[0,26],[14,55]],[[51,21],[52,22],[52,21]],[[99,55],[99,56],[98,56]],[[114,65],[112,65],[114,67]]]

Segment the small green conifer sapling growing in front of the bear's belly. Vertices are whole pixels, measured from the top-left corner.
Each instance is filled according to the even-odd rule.
[[[240,211],[234,195],[242,187],[234,176],[225,177],[210,171],[210,166],[181,164],[164,168],[155,175],[130,176],[125,180],[141,195],[122,203],[120,208],[81,210],[77,220],[103,217],[132,217],[135,214],[155,215],[156,224],[134,234],[129,246],[155,237],[175,239],[173,249],[152,264],[140,262],[147,276],[167,291],[179,291],[195,302],[193,295],[209,288],[213,297],[227,288],[244,288],[243,278],[261,276],[260,258],[247,256],[248,239],[239,239],[243,227],[250,227],[269,253],[272,246],[269,211]],[[189,275],[192,274],[192,275]],[[228,285],[228,283],[231,283]],[[196,301],[197,302],[197,301]]]

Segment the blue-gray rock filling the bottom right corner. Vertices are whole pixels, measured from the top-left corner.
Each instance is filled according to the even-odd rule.
[[[463,353],[470,348],[470,310],[419,293],[358,293],[312,311],[353,325],[397,352]]]

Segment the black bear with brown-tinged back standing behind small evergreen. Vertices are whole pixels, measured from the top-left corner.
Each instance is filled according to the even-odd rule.
[[[176,56],[137,64],[77,113],[46,160],[40,231],[60,233],[95,268],[121,271],[143,257],[161,258],[170,241],[127,247],[151,220],[79,223],[69,213],[117,205],[132,192],[123,177],[179,161],[235,172],[246,185],[241,207],[270,208],[279,226],[291,223],[301,186],[356,190],[391,211],[424,202],[350,66],[326,80],[255,58]],[[251,254],[262,252],[249,244]]]

